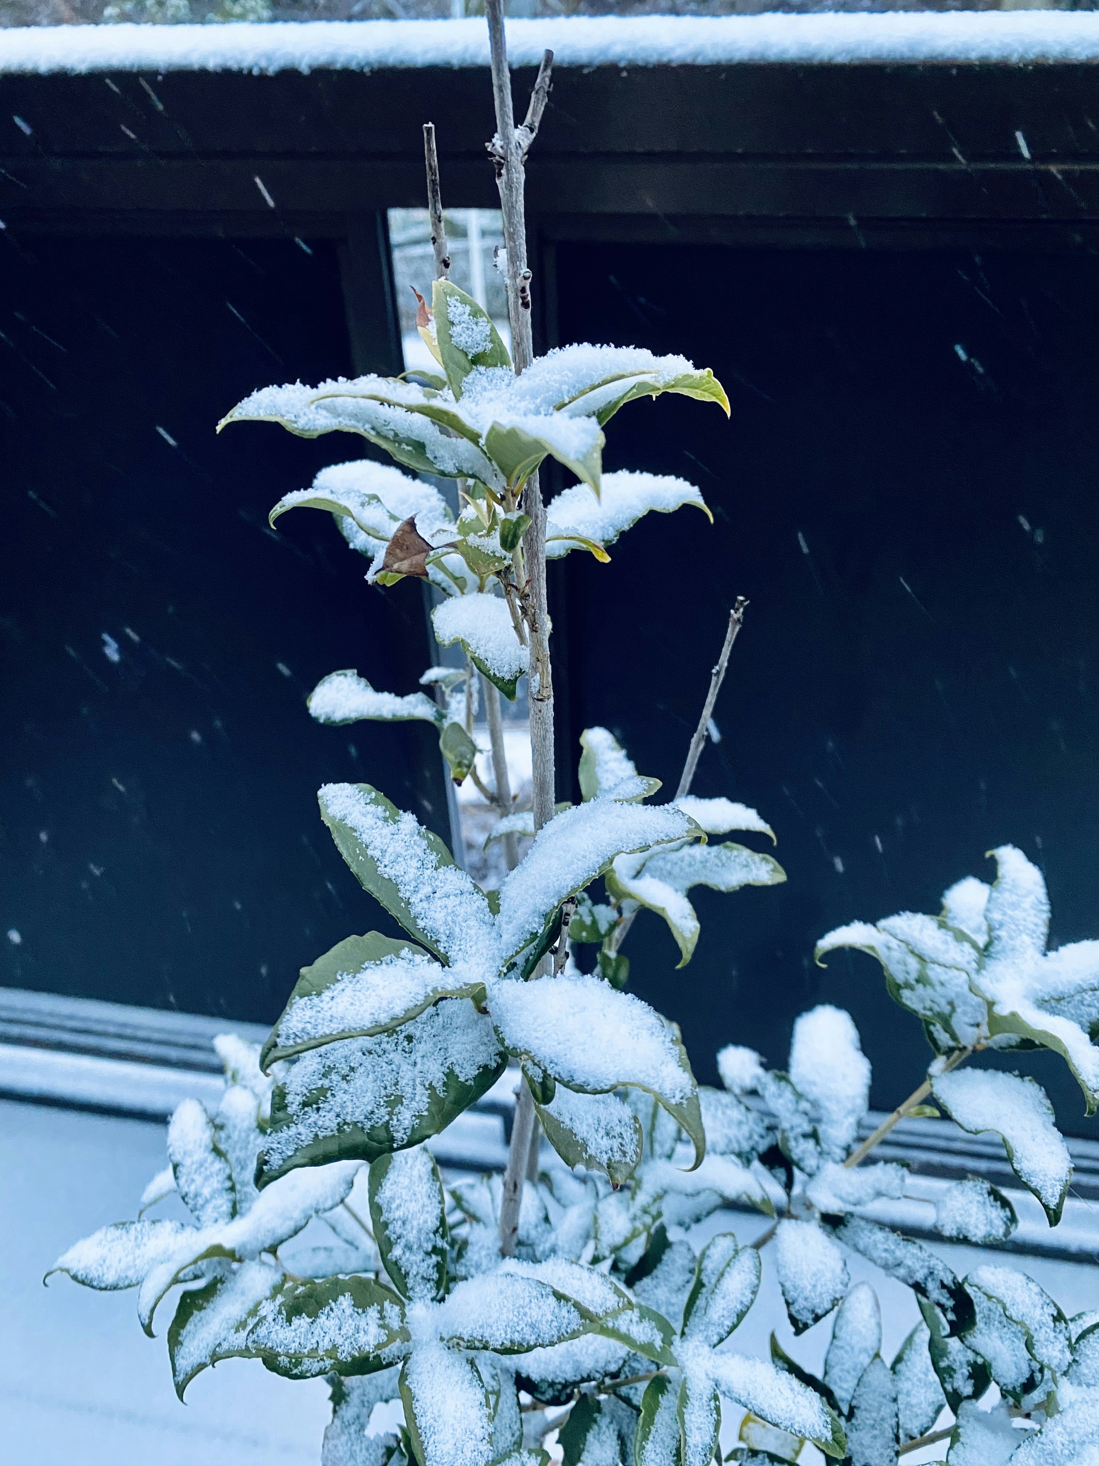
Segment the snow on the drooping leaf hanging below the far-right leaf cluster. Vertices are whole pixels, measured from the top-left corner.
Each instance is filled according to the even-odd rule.
[[[963,1069],[932,1079],[932,1092],[970,1135],[993,1130],[1015,1176],[1042,1202],[1049,1226],[1061,1220],[1073,1160],[1054,1107],[1033,1079],[993,1069]]]

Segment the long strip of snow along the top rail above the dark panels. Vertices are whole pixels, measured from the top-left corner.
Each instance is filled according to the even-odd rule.
[[[508,21],[514,66],[550,47],[557,66],[724,66],[737,62],[1099,62],[1099,15],[952,10],[573,16]],[[488,31],[469,21],[312,21],[232,25],[57,25],[0,29],[0,73],[385,70],[488,66]]]

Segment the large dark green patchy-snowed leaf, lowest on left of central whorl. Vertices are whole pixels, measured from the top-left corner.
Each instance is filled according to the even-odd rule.
[[[419,1145],[506,1067],[491,1022],[463,998],[438,1003],[391,1034],[300,1054],[271,1098],[256,1185],[300,1165],[375,1161]]]

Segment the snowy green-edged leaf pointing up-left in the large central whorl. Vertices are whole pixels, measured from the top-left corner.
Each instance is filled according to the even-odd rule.
[[[359,884],[416,941],[443,962],[479,960],[494,950],[488,903],[437,834],[371,784],[325,784],[318,800]]]

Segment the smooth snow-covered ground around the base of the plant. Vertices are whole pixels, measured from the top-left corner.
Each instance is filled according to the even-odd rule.
[[[91,1293],[67,1278],[42,1289],[42,1274],[76,1237],[132,1217],[135,1199],[164,1163],[164,1129],[31,1104],[0,1101],[0,1421],[3,1459],[19,1466],[317,1466],[328,1418],[321,1381],[290,1382],[258,1363],[227,1360],[199,1375],[188,1404],[176,1400],[158,1315],[157,1340],[141,1333],[133,1293]],[[736,1231],[749,1242],[766,1224],[719,1212],[702,1236]],[[986,1255],[936,1245],[964,1274]],[[1068,1314],[1099,1308],[1099,1268],[1013,1258]],[[829,1322],[794,1341],[778,1284],[763,1252],[761,1299],[734,1346],[766,1356],[769,1331],[810,1368],[819,1366]],[[878,1290],[884,1355],[892,1358],[916,1322],[911,1294],[857,1256],[854,1281]],[[736,1434],[733,1422],[731,1435]],[[727,1441],[731,1444],[731,1441]],[[942,1457],[944,1447],[907,1457]]]

